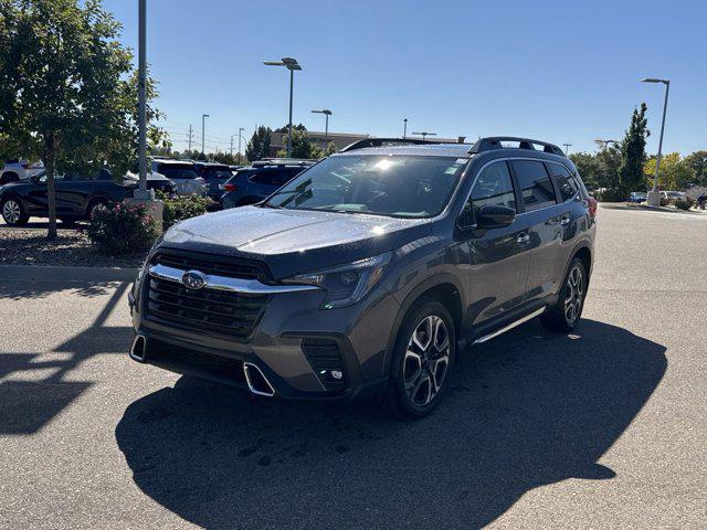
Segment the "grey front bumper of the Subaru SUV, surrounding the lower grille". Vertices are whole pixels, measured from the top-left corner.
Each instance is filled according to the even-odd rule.
[[[247,341],[145,318],[141,295],[129,303],[134,329],[145,338],[140,362],[241,389],[249,389],[243,365],[252,363],[275,396],[341,400],[387,384],[383,362],[399,306],[374,295],[334,310],[319,309],[320,292],[275,295]],[[331,379],[336,356],[340,381]]]

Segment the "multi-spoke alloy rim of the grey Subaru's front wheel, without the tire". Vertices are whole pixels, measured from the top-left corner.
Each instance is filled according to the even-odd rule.
[[[425,406],[440,392],[450,365],[450,335],[440,317],[415,326],[403,359],[403,380],[411,403]]]

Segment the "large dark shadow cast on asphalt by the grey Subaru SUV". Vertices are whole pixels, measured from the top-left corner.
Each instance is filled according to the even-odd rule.
[[[428,418],[382,401],[256,400],[190,378],[130,404],[116,438],[137,486],[205,528],[481,528],[598,464],[666,370],[665,348],[583,320],[469,350]]]

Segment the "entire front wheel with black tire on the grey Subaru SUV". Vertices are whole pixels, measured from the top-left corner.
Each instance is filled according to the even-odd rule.
[[[391,360],[388,399],[393,412],[408,418],[430,414],[446,391],[455,356],[450,311],[432,298],[415,303],[400,327]]]

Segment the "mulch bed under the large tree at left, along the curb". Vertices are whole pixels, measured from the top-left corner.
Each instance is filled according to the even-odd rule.
[[[0,227],[0,265],[73,265],[87,267],[139,267],[143,253],[108,256],[76,230],[59,230],[56,240],[46,230]]]

